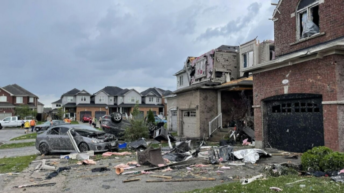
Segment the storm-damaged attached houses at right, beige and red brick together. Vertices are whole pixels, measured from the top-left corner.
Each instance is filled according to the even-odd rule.
[[[343,9],[336,0],[279,0],[274,41],[187,57],[174,74],[177,90],[164,97],[169,129],[214,137],[231,123],[233,101],[244,92],[256,147],[344,151]]]

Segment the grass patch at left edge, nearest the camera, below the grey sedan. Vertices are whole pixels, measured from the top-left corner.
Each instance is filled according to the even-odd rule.
[[[5,157],[0,159],[0,173],[21,172],[31,161],[35,160],[37,155],[27,155],[20,157]],[[3,165],[4,164],[4,165]]]

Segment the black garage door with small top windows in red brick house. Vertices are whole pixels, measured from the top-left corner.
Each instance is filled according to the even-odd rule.
[[[324,145],[321,101],[313,94],[285,94],[267,101],[269,144],[291,152]]]

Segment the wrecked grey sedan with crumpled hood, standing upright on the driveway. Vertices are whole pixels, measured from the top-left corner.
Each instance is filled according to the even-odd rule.
[[[88,125],[69,124],[53,126],[46,131],[39,132],[36,138],[36,149],[45,155],[51,152],[74,152],[72,141],[67,134],[68,130],[81,152],[112,151],[118,148],[118,139],[113,134],[105,133]]]

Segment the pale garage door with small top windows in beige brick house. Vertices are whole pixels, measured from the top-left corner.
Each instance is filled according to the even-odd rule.
[[[187,137],[198,137],[196,134],[196,111],[183,110],[183,134]]]

